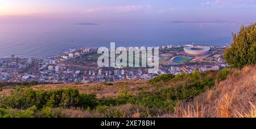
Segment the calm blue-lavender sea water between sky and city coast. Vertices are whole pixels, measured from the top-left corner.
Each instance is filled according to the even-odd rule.
[[[0,57],[46,58],[78,48],[208,44],[226,46],[241,24],[231,23],[0,23]]]

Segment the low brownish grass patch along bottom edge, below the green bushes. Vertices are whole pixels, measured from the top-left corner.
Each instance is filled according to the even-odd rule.
[[[148,109],[133,104],[106,106],[100,110],[93,109],[89,111],[77,108],[56,108],[51,109],[51,112],[59,118],[152,118],[162,115],[162,110]],[[36,114],[36,117],[43,118],[44,114],[39,112]]]

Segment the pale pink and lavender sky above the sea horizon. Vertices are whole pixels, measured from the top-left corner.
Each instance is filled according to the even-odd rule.
[[[0,0],[15,20],[255,22],[256,0]]]

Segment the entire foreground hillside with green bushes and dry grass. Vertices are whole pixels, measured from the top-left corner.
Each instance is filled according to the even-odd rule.
[[[256,65],[150,81],[0,90],[0,117],[256,117]]]

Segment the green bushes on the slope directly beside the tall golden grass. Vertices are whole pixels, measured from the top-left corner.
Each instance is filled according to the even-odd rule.
[[[178,101],[189,100],[213,87],[215,80],[219,78],[217,74],[218,71],[183,73],[170,79],[169,87],[156,88],[151,92],[141,92],[130,103],[174,111]]]

